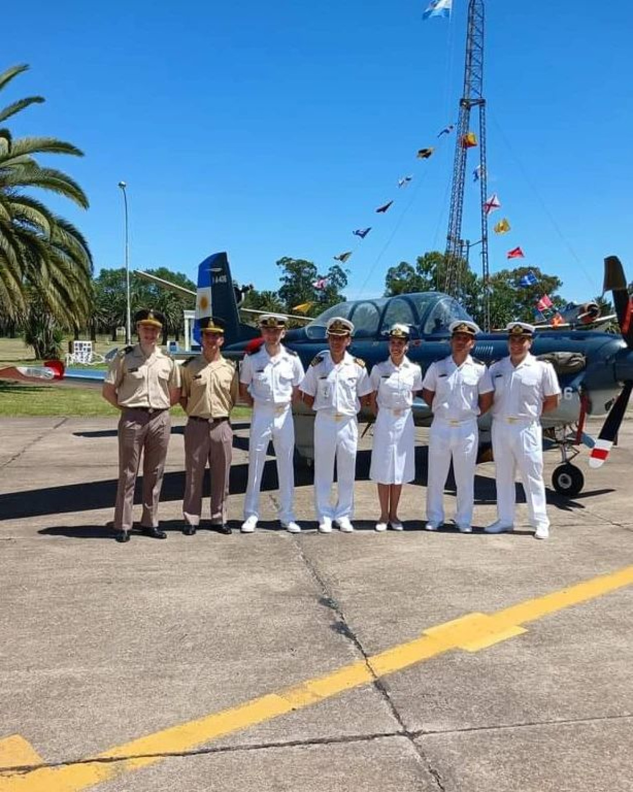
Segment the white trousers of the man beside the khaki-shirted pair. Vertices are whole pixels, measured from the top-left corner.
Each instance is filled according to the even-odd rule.
[[[294,423],[292,409],[282,412],[275,407],[256,404],[252,413],[248,444],[248,485],[244,497],[244,518],[260,516],[260,489],[268,444],[272,440],[279,478],[279,520],[294,520]]]

